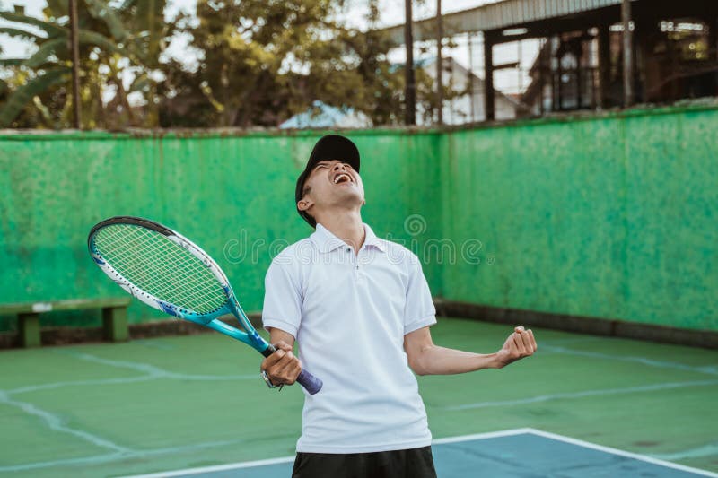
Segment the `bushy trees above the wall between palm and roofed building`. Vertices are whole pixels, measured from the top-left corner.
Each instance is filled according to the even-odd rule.
[[[379,20],[369,0],[370,26]],[[196,70],[167,65],[162,126],[277,126],[315,100],[350,107],[375,125],[401,124],[404,75],[378,30],[347,28],[330,0],[199,0],[178,19]],[[424,76],[419,91],[431,91]],[[427,97],[424,97],[427,100]]]

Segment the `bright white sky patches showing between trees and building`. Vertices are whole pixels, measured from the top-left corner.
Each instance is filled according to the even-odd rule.
[[[458,12],[474,8],[482,4],[494,3],[496,0],[444,0],[442,5],[443,13]],[[165,10],[165,17],[172,18],[179,11],[193,12],[197,0],[170,0],[169,6]],[[0,9],[12,10],[13,5],[22,5],[28,15],[42,18],[42,9],[46,6],[45,0],[0,0]],[[346,24],[366,30],[366,15],[368,6],[366,0],[346,0],[344,12],[341,14]],[[381,19],[380,26],[392,26],[403,22],[404,20],[404,0],[380,0]],[[434,0],[424,0],[422,2],[414,2],[414,19],[421,20],[430,18],[436,14],[436,2]],[[11,25],[9,22],[0,20],[0,26]],[[457,48],[447,48],[444,50],[444,56],[452,56],[460,65],[469,66],[468,44],[465,36],[456,39],[459,44]],[[171,42],[167,50],[167,55],[182,60],[188,65],[197,61],[196,56],[188,55],[187,39],[176,38]],[[471,64],[474,66],[474,72],[483,77],[483,55],[480,44],[474,43],[473,57]],[[28,57],[32,54],[34,47],[31,43],[13,39],[7,35],[0,34],[0,48],[3,52],[0,57]],[[521,70],[528,71],[533,59],[538,54],[538,43],[535,40],[525,40],[521,42],[521,48],[517,43],[499,45],[495,47],[494,57],[495,63],[509,63],[518,61],[519,49],[521,49]],[[435,56],[434,48],[431,48],[425,56]],[[415,57],[419,56],[415,54]],[[397,63],[403,63],[406,58],[403,47],[397,48],[390,54],[390,60]],[[495,72],[495,86],[504,92],[518,92],[522,87],[529,83],[528,76],[520,74],[517,70],[500,70]]]

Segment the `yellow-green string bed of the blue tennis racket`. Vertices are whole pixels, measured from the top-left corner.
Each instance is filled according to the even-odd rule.
[[[113,224],[97,232],[95,247],[136,288],[181,309],[206,314],[227,300],[206,265],[159,232]]]

